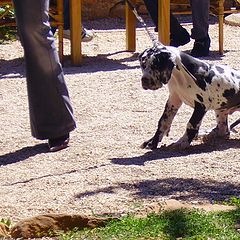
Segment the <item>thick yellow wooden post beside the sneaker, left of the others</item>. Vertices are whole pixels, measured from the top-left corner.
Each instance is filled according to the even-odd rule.
[[[70,22],[71,22],[71,60],[74,66],[82,62],[82,16],[81,0],[70,0]]]

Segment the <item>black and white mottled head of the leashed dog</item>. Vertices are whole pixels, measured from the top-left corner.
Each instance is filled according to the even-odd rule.
[[[156,90],[168,83],[175,66],[173,55],[171,50],[161,45],[148,48],[139,55],[144,89]]]

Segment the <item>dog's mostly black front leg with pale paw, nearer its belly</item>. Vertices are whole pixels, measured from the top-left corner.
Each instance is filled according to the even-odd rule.
[[[195,101],[194,111],[187,124],[186,132],[176,143],[171,144],[171,146],[178,149],[185,149],[189,147],[193,138],[198,135],[198,131],[205,113],[205,106]]]

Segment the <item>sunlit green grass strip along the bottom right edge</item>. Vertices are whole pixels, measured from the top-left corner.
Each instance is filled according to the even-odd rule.
[[[239,202],[238,202],[239,203]],[[104,228],[72,231],[59,239],[104,240],[239,240],[236,224],[240,222],[240,209],[230,212],[204,212],[200,210],[165,211],[146,218],[127,216],[112,221]]]

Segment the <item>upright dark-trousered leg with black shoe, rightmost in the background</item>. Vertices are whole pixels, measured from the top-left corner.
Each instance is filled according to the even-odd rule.
[[[193,56],[207,56],[209,54],[209,0],[190,0],[192,8],[193,29],[191,37],[195,39],[191,52]]]

